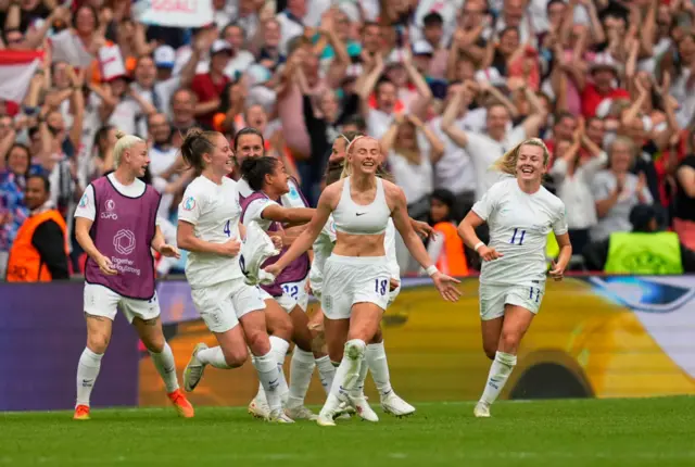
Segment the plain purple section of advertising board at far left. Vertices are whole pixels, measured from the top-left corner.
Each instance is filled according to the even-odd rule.
[[[87,342],[81,282],[0,282],[0,411],[75,406]],[[92,406],[138,402],[138,338],[123,316],[101,363]]]

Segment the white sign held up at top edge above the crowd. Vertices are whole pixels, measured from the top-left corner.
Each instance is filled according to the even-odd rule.
[[[213,3],[212,0],[139,0],[135,15],[143,24],[202,27],[213,22]]]

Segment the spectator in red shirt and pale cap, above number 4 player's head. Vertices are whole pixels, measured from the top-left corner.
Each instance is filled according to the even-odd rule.
[[[232,49],[226,40],[215,40],[210,48],[210,71],[195,75],[191,89],[198,97],[195,118],[201,126],[212,129],[213,117],[219,108],[222,91],[230,81],[225,75],[225,68],[231,60]]]

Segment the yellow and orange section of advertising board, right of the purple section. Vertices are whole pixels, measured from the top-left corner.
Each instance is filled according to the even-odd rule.
[[[415,402],[476,400],[490,369],[480,337],[478,280],[463,280],[464,296],[456,304],[442,301],[429,283],[428,279],[406,279],[401,295],[384,314],[393,388]],[[159,293],[164,321],[175,332],[169,343],[182,370],[198,342],[216,343],[198,319],[186,283],[164,282]],[[543,306],[523,340],[504,396],[695,394],[694,337],[695,276],[548,281]],[[316,379],[307,397],[312,404],[325,400]],[[150,362],[140,365],[140,404],[168,403]],[[227,371],[208,368],[191,401],[245,405],[256,389],[250,364]],[[378,401],[369,377],[367,395]]]

